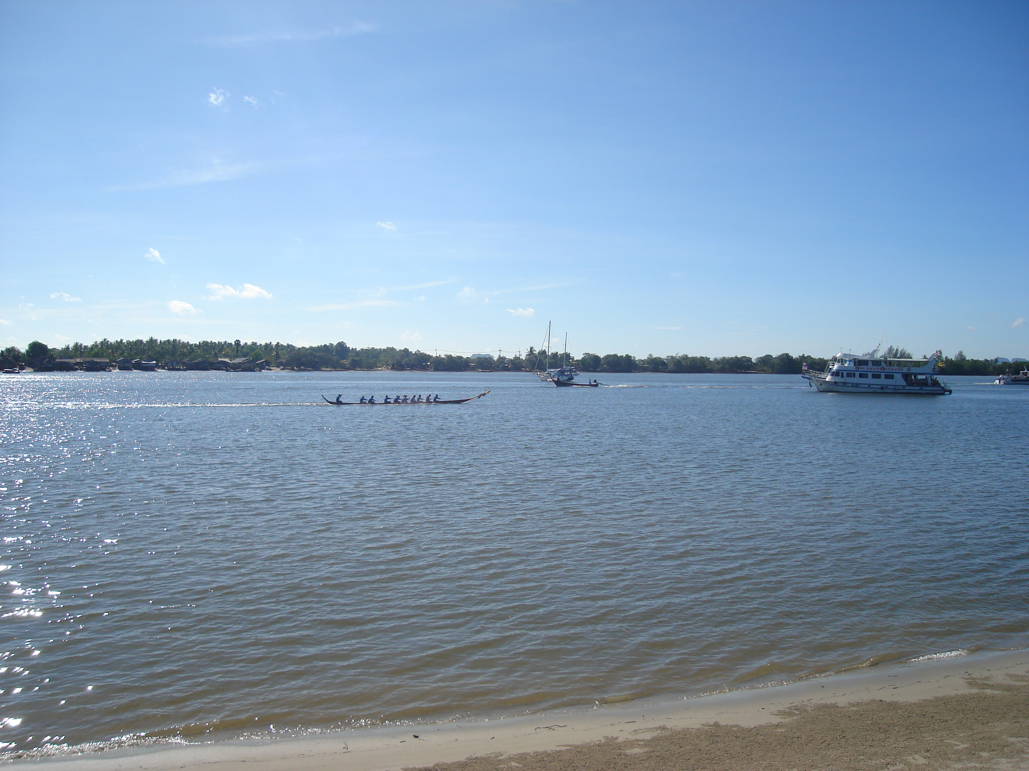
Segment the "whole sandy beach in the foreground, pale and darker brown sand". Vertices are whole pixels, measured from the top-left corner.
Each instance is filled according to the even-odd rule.
[[[62,771],[1029,769],[1029,651],[498,721],[15,761]]]

